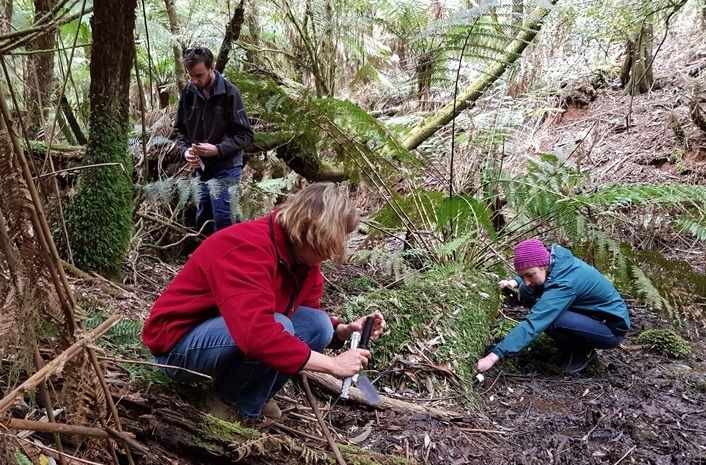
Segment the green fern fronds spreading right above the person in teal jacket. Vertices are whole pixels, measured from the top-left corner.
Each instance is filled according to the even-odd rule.
[[[594,263],[611,275],[622,290],[640,298],[657,310],[679,318],[677,297],[669,286],[654,281],[658,271],[641,268],[635,252],[605,231],[622,223],[633,224],[625,211],[649,207],[663,211],[660,218],[679,230],[687,228],[687,214],[703,218],[706,188],[694,185],[619,185],[594,192],[582,192],[586,176],[561,157],[541,156],[528,162],[528,174],[517,178],[502,177],[507,210],[516,213],[506,234],[530,231],[536,225],[551,229],[552,235],[592,251]],[[675,218],[669,213],[683,211]],[[698,224],[698,221],[696,222]],[[698,237],[699,227],[693,229]],[[534,233],[536,235],[536,233]]]

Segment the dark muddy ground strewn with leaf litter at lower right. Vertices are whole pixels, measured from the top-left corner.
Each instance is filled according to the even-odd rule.
[[[630,336],[671,326],[642,307],[631,311]],[[505,313],[520,317],[522,310],[507,307]],[[465,409],[448,396],[389,394],[455,409],[465,420],[375,412],[324,399],[333,405],[328,420],[342,442],[428,464],[706,464],[703,342],[691,341],[690,358],[671,360],[630,336],[620,348],[602,351],[600,361],[579,376],[554,373],[529,354],[509,370],[496,365],[476,389],[476,408]],[[319,435],[304,404],[291,397],[280,397],[280,403],[290,409],[283,424]],[[262,426],[282,431],[276,423]]]

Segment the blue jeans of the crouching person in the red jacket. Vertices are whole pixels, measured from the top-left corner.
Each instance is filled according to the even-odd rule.
[[[316,352],[322,352],[333,338],[331,319],[322,310],[299,307],[291,319],[276,313],[275,320]],[[290,378],[272,367],[246,358],[233,342],[222,316],[194,327],[170,353],[157,355],[155,360],[160,364],[213,377],[213,388],[218,397],[248,419],[258,418],[262,406]],[[198,375],[174,368],[168,368],[165,372],[177,381],[203,380]]]

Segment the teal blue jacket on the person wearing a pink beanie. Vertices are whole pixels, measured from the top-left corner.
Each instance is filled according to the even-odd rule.
[[[515,281],[521,284],[522,278],[515,276]],[[605,320],[614,331],[630,329],[628,309],[610,281],[559,245],[551,248],[546,281],[533,291],[538,300],[527,317],[491,351],[501,359],[527,347],[568,309]]]

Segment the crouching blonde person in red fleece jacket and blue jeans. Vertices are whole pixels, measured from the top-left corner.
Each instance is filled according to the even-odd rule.
[[[245,419],[301,370],[347,377],[370,353],[331,357],[366,317],[339,322],[320,310],[320,264],[345,257],[358,213],[332,183],[295,194],[271,215],[229,226],[206,239],[159,296],[142,338],[166,373],[183,382],[214,379],[213,394]],[[371,337],[385,329],[379,312]],[[178,367],[178,368],[176,368]]]

